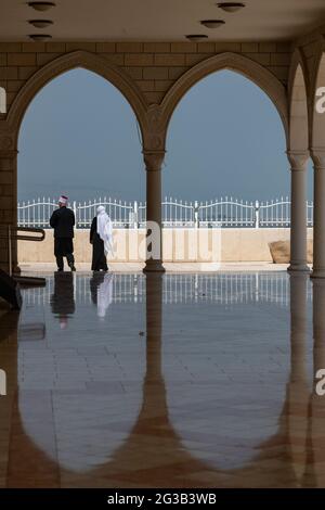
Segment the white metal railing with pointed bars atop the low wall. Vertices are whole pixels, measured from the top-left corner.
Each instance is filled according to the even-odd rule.
[[[144,228],[145,202],[96,199],[73,202],[77,228],[89,228],[99,205],[104,205],[114,228]],[[210,202],[187,202],[165,199],[161,202],[162,227],[168,228],[281,228],[290,226],[290,199],[281,197],[266,202],[247,202],[225,196]],[[20,202],[18,227],[49,227],[49,218],[57,207],[54,200],[38,199]],[[307,225],[313,226],[313,202],[307,202]]]

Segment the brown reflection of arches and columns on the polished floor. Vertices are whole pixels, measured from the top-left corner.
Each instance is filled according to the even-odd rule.
[[[53,451],[52,456],[48,456],[24,431],[22,418],[18,415],[20,409],[15,404],[11,429],[8,485],[16,487],[24,483],[24,486],[42,486],[47,483],[53,487],[60,484],[63,486],[72,484],[108,488],[109,486],[127,487],[132,483],[134,487],[186,487],[190,484],[206,487],[216,485],[244,487],[251,486],[252,480],[256,481],[257,486],[263,487],[304,484],[301,476],[306,466],[306,447],[301,446],[301,442],[304,445],[306,436],[301,426],[303,416],[301,410],[303,412],[306,410],[306,400],[301,401],[301,387],[304,387],[306,383],[303,371],[306,316],[301,317],[301,315],[306,310],[306,278],[291,279],[294,366],[277,431],[258,445],[256,455],[243,469],[224,470],[218,467],[211,469],[208,462],[199,460],[184,448],[182,438],[173,429],[161,373],[162,281],[160,276],[153,275],[147,279],[146,286],[147,366],[143,383],[143,403],[136,423],[127,441],[114,451],[112,459],[95,466],[90,473],[77,474],[60,464],[54,441],[53,444],[51,443],[54,437],[54,432],[51,430],[52,407],[41,406],[44,413],[43,426],[46,426],[42,432]],[[34,399],[35,394],[29,398]],[[31,409],[34,409],[32,403]],[[32,415],[31,420],[35,421]],[[23,458],[22,451],[27,452]],[[144,460],[147,462],[145,463]],[[26,477],[29,473],[32,475]]]

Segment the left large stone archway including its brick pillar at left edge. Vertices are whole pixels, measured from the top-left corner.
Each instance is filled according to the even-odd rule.
[[[74,68],[91,71],[115,86],[130,104],[138,119],[142,140],[148,139],[150,122],[148,104],[136,84],[125,71],[107,62],[101,55],[87,51],[74,51],[54,59],[46,64],[23,86],[14,99],[5,119],[0,122],[0,165],[5,170],[2,179],[5,180],[10,193],[5,196],[0,218],[3,225],[16,225],[17,222],[17,139],[24,114],[36,94],[52,79]],[[13,243],[13,265],[17,268],[16,243]],[[8,269],[8,248],[0,253],[0,265]]]

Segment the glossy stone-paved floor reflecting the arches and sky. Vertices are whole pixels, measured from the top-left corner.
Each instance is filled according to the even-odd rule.
[[[325,282],[49,273],[0,308],[0,487],[324,487]]]

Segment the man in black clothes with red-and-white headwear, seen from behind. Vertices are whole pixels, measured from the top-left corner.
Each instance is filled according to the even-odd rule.
[[[67,196],[60,196],[58,209],[53,212],[50,219],[50,225],[54,229],[54,255],[58,271],[63,271],[63,257],[66,257],[72,271],[76,270],[73,242],[75,214],[67,207]]]

